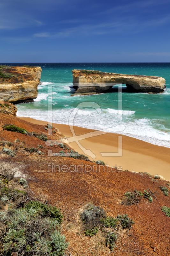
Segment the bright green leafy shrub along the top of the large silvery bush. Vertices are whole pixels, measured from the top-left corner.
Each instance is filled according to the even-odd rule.
[[[44,216],[50,216],[53,220],[57,220],[60,224],[62,223],[63,215],[57,207],[48,206],[48,204],[43,204],[38,201],[31,201],[26,204],[25,208],[26,210],[33,208],[37,211],[41,208]]]

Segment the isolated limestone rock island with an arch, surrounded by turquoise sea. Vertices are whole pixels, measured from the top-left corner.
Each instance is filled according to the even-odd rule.
[[[164,92],[165,79],[158,76],[123,75],[94,70],[72,70],[74,95],[108,92],[115,83],[126,84],[129,92]]]

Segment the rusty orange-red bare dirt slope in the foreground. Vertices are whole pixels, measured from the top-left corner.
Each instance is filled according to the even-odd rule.
[[[100,172],[96,171],[96,164],[84,160],[78,160],[68,157],[48,156],[48,150],[59,152],[63,150],[58,146],[46,146],[45,142],[35,137],[25,134],[5,131],[2,126],[5,124],[14,124],[20,128],[26,129],[28,132],[46,133],[49,139],[55,140],[64,138],[60,133],[54,136],[48,136],[42,125],[32,124],[21,120],[17,117],[0,113],[0,141],[7,140],[14,143],[15,139],[21,142],[18,145],[17,156],[11,157],[0,154],[0,162],[7,163],[9,166],[18,167],[18,169],[26,175],[29,188],[27,191],[41,201],[47,201],[53,206],[61,209],[64,215],[61,232],[66,236],[66,240],[70,242],[69,252],[72,256],[76,255],[170,255],[170,218],[161,211],[161,206],[170,207],[169,197],[164,196],[160,190],[160,186],[166,186],[165,180],[153,180],[142,173],[133,173],[128,171],[112,172],[111,168],[101,166]],[[14,144],[15,145],[15,144]],[[27,148],[40,148],[44,155],[36,155],[28,153],[24,150]],[[8,147],[14,149],[13,146]],[[0,151],[2,146],[0,146]],[[53,163],[52,168],[48,164]],[[89,165],[86,167],[80,166]],[[54,165],[76,165],[70,167],[71,171],[59,172],[59,168]],[[79,167],[77,167],[79,165]],[[51,166],[51,165],[50,165]],[[93,171],[90,171],[90,168]],[[93,167],[94,166],[94,167]],[[99,168],[99,165],[97,165]],[[49,171],[50,170],[50,171]],[[153,181],[152,181],[153,180]],[[124,198],[126,191],[137,189],[143,192],[145,189],[151,189],[157,192],[156,199],[149,203],[147,199],[142,199],[138,205],[125,206],[120,204]],[[114,251],[110,252],[105,245],[105,239],[102,233],[98,232],[96,236],[86,237],[82,232],[82,223],[80,213],[83,211],[84,205],[91,202],[95,205],[103,207],[107,215],[117,216],[117,214],[128,214],[135,224],[129,231],[131,236],[122,231],[118,236]],[[66,225],[74,223],[73,230],[67,230]]]

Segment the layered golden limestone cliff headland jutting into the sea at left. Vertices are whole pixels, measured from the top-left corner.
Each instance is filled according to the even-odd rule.
[[[41,67],[0,66],[0,100],[18,102],[37,98]]]

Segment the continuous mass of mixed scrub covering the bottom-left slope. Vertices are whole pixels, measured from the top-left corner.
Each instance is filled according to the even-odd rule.
[[[25,191],[15,189],[27,185],[24,178],[1,164],[0,180],[0,255],[62,256],[68,247],[60,233],[63,215],[56,207],[31,201]],[[18,183],[19,182],[19,183]],[[27,203],[28,202],[28,203]],[[8,210],[4,207],[8,204]]]

